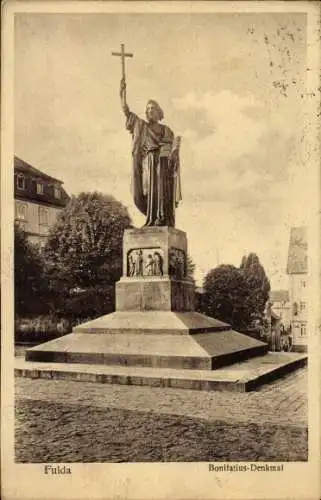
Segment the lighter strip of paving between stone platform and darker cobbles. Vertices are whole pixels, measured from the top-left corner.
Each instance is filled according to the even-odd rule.
[[[307,427],[307,368],[249,393],[16,379],[17,400]]]

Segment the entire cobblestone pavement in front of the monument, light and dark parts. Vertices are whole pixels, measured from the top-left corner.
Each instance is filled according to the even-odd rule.
[[[307,369],[250,393],[16,379],[17,462],[307,460]]]

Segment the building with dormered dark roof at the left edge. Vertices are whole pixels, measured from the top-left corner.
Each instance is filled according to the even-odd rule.
[[[14,197],[15,222],[30,242],[43,246],[49,228],[70,199],[63,182],[15,156]]]

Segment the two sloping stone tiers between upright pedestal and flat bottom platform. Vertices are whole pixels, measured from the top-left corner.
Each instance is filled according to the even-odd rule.
[[[28,349],[26,360],[213,370],[267,349],[265,343],[195,312],[115,312]]]

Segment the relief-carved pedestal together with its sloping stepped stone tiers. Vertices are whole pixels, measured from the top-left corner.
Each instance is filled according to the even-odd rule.
[[[116,311],[28,349],[26,360],[211,371],[267,352],[267,345],[194,311],[187,238],[168,227],[127,229]]]

